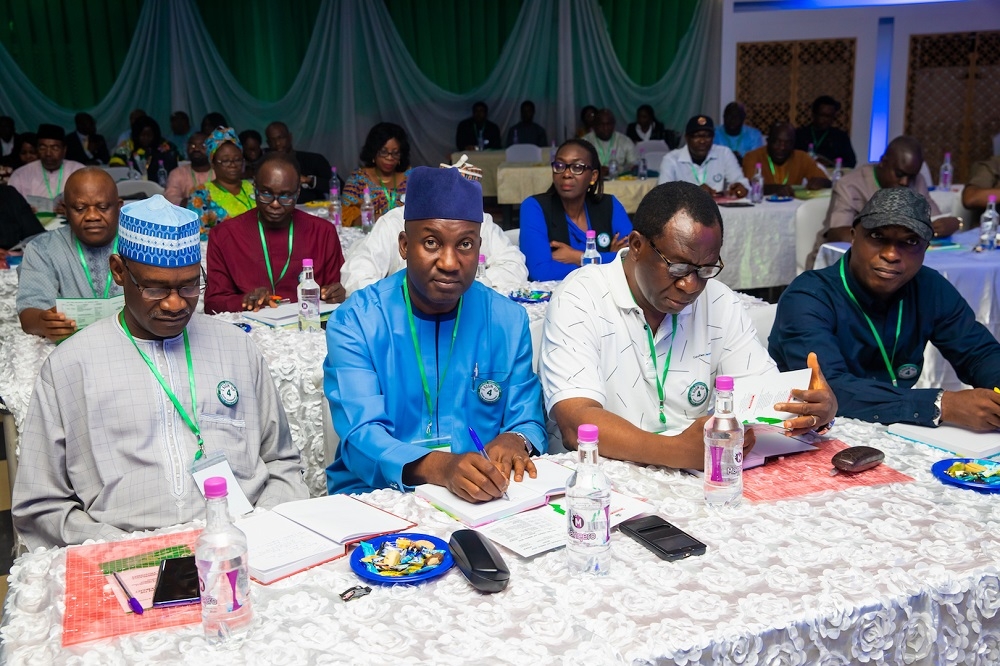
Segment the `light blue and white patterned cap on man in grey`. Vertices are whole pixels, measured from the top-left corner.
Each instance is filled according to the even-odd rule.
[[[201,223],[194,211],[159,194],[122,207],[118,254],[148,266],[177,268],[201,263]]]

